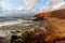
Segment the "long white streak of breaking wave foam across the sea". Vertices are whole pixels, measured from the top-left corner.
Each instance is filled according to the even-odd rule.
[[[12,25],[16,25],[16,24],[25,23],[25,22],[30,22],[30,20],[23,20],[23,19],[9,20],[9,22],[0,23],[0,27],[2,27],[2,26],[12,26]]]

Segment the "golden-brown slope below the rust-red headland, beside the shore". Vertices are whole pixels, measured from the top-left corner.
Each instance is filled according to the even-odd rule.
[[[51,33],[58,37],[65,37],[65,19],[48,18],[48,24],[50,25]]]

